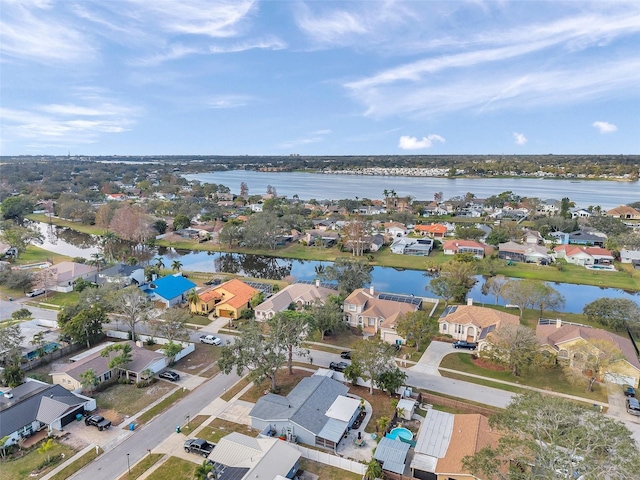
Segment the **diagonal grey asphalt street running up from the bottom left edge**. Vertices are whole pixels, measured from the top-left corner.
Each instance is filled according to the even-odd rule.
[[[134,465],[147,454],[147,449],[153,450],[169,434],[175,432],[176,425],[182,425],[187,415],[195,416],[238,380],[239,377],[235,373],[215,376],[70,478],[90,478],[91,480],[118,478],[127,471],[127,455],[129,464]]]

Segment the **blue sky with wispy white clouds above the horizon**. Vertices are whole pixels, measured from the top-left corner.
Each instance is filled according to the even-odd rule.
[[[640,153],[640,2],[0,0],[0,153]]]

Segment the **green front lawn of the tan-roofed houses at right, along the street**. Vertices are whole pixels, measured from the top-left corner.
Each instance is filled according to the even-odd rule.
[[[514,377],[510,371],[495,371],[476,366],[473,364],[472,358],[473,356],[467,353],[450,353],[442,359],[440,367],[457,370],[459,372],[473,373],[475,375],[481,375],[483,377],[503,380],[506,382],[519,383],[521,385],[541,388],[543,390],[566,393],[568,395],[588,398],[589,400],[596,400],[600,402],[607,401],[606,389],[600,388],[596,385],[593,392],[588,392],[584,386],[573,385],[560,367],[551,369],[532,369],[531,371],[523,372],[519,377]],[[441,371],[440,373],[444,377],[450,376],[449,372]],[[468,382],[479,383],[477,379],[473,377],[463,376],[463,378]],[[499,383],[493,383],[491,386],[502,390],[513,391],[513,387],[507,388],[507,385]]]

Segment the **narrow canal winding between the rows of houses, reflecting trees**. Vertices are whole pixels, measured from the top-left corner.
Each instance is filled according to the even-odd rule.
[[[92,253],[98,251],[97,239],[91,235],[75,232],[75,235],[65,233],[69,230],[62,227],[50,227],[45,223],[40,224],[46,235],[55,237],[54,241],[47,239],[45,245],[47,250],[69,255],[72,257],[90,258]],[[76,244],[69,242],[79,242]],[[161,258],[165,266],[170,267],[174,260],[179,260],[182,269],[192,272],[210,273],[234,273],[246,275],[254,278],[264,278],[271,280],[281,280],[291,276],[296,280],[314,280],[316,278],[316,267],[326,265],[328,262],[315,260],[293,260],[279,257],[267,257],[263,255],[248,255],[237,253],[220,252],[194,252],[189,250],[175,250],[170,248],[158,248],[155,250],[136,249],[132,245],[122,246],[129,249],[129,253],[135,253],[141,264]],[[404,293],[408,295],[435,297],[426,289],[429,277],[419,270],[396,270],[390,267],[374,267],[372,283],[376,290],[390,293]],[[476,284],[469,292],[469,297],[473,298],[476,304],[494,304],[492,295],[482,293],[484,279],[476,277]],[[626,292],[616,288],[596,287],[590,285],[574,285],[570,283],[549,282],[558,290],[566,300],[563,312],[581,313],[584,306],[600,297],[628,298],[635,302],[640,301],[640,292]],[[500,299],[499,303],[504,305]]]

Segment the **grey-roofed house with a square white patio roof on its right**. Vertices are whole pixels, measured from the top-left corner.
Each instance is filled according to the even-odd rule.
[[[249,412],[251,426],[307,445],[335,449],[360,412],[349,388],[324,375],[300,380],[287,396],[268,393]]]

